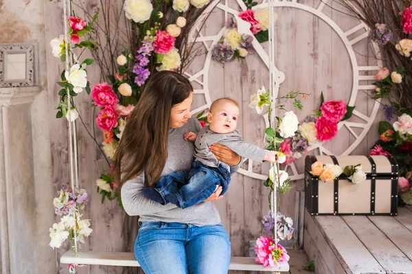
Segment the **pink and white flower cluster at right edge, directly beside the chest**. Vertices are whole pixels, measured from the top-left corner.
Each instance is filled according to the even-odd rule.
[[[392,155],[400,166],[398,179],[399,203],[412,205],[412,117],[409,114],[398,116],[393,124],[379,122],[380,139],[371,148],[370,155]]]

